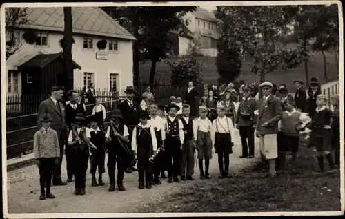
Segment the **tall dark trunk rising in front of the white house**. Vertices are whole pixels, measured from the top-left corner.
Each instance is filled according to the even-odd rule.
[[[63,7],[64,30],[63,30],[63,77],[65,91],[73,89],[73,67],[72,67],[72,8]]]

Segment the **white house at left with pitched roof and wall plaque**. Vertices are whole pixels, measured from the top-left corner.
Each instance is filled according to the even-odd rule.
[[[30,83],[30,77],[22,78],[17,67],[38,54],[62,52],[63,8],[27,8],[26,14],[28,23],[13,31],[6,30],[6,37],[14,37],[22,44],[6,61],[7,95],[21,94],[22,83]],[[35,32],[34,44],[23,40],[23,33],[28,30]],[[119,91],[132,85],[135,37],[98,7],[72,7],[72,31],[72,59],[81,67],[74,70],[75,87],[92,82],[95,88]],[[104,50],[97,48],[101,39],[107,41]]]

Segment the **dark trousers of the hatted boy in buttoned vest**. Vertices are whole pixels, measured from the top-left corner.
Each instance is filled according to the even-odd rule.
[[[168,177],[177,177],[180,171],[181,162],[181,142],[179,137],[166,137],[166,166],[168,168]]]

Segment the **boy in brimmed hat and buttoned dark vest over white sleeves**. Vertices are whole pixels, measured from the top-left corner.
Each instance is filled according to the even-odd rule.
[[[180,172],[181,151],[184,144],[184,124],[176,117],[179,106],[170,104],[166,107],[168,116],[165,121],[166,140],[164,149],[168,167],[168,183],[180,182],[178,175]]]

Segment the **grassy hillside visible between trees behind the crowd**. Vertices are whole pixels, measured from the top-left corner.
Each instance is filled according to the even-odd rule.
[[[328,81],[332,81],[335,79],[339,79],[339,70],[335,64],[335,57],[332,53],[326,53],[326,61],[328,62],[327,72],[328,72]],[[308,63],[309,69],[309,78],[316,77],[319,80],[319,83],[323,84],[324,80],[324,61],[322,58],[321,53],[315,54]],[[252,61],[243,61],[242,63],[242,73],[239,76],[238,80],[244,80],[247,83],[254,82],[255,75],[250,72],[250,68],[252,66]],[[141,77],[149,77],[150,75],[150,68],[151,68],[151,61],[146,61],[144,64],[139,65],[140,68],[140,76]],[[170,68],[164,64],[164,62],[157,64],[157,71],[155,78],[166,78],[170,79]],[[206,59],[206,68],[204,69],[203,73],[201,74],[201,78],[204,79],[206,83],[216,83],[218,78],[217,67],[215,66],[215,57],[208,57]],[[290,70],[282,71],[276,70],[272,73],[268,73],[266,75],[266,80],[273,82],[277,85],[286,83],[288,89],[290,91],[295,90],[295,86],[293,84],[294,79],[302,79],[302,81],[306,81],[305,73],[304,73],[304,64],[298,66],[297,68],[293,68]]]

